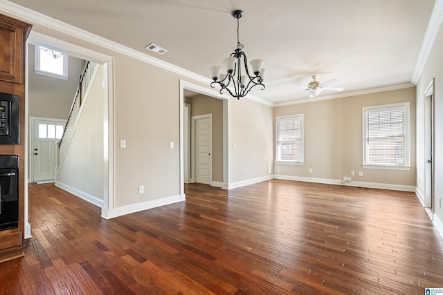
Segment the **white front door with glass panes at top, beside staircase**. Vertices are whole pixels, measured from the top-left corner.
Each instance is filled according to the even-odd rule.
[[[64,121],[32,118],[31,181],[55,180],[57,140],[63,134]]]

